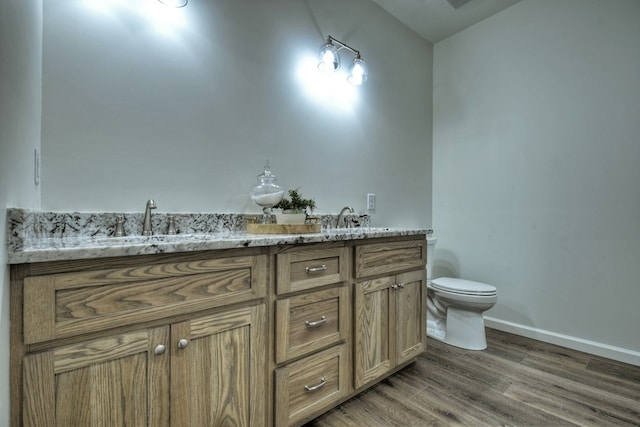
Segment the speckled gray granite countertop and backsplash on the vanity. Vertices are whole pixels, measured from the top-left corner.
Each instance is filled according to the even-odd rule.
[[[141,236],[143,215],[124,214],[125,237],[112,237],[116,213],[60,213],[7,210],[7,262],[59,261],[252,246],[359,240],[426,234],[425,229],[375,228],[369,217],[352,216],[360,226],[332,229],[335,216],[321,215],[322,232],[257,235],[246,233],[241,214],[172,214],[176,235],[164,235],[167,215],[153,214],[154,236]]]

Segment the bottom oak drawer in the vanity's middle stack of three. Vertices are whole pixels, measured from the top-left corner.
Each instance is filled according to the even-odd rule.
[[[341,344],[276,369],[276,423],[291,425],[349,393],[347,346]]]

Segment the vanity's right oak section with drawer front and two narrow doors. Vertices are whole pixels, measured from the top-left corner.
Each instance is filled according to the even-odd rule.
[[[356,388],[382,378],[425,350],[425,263],[425,240],[355,247]]]

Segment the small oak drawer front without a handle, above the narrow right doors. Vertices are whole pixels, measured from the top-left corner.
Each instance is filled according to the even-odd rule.
[[[356,277],[397,273],[422,268],[427,263],[427,240],[380,242],[355,248]]]

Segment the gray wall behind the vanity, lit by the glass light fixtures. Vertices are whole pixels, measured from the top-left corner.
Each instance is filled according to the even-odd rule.
[[[377,5],[122,3],[45,2],[44,209],[258,212],[268,159],[320,213],[373,192],[374,224],[431,225],[432,46]],[[364,86],[348,52],[337,81],[317,70],[329,34]]]

